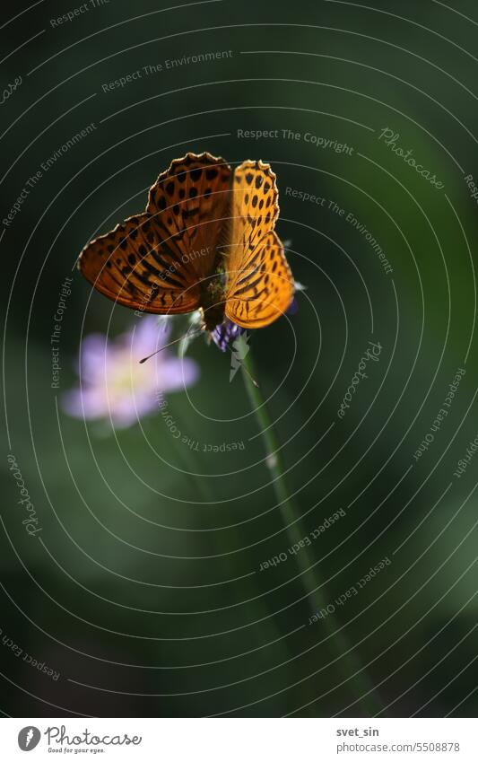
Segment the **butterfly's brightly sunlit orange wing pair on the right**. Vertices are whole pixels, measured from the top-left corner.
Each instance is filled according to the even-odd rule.
[[[269,164],[243,162],[234,172],[225,311],[243,328],[269,325],[292,300],[291,269],[274,232],[278,196]]]

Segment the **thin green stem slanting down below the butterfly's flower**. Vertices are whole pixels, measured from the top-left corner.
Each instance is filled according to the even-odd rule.
[[[250,352],[242,363],[246,366],[242,370],[242,376],[265,444],[266,463],[272,477],[283,527],[292,546],[305,537],[307,530],[303,529],[300,512],[291,500],[291,494],[284,477],[279,442],[274,432],[274,426],[265,407],[261,391],[252,381],[253,378],[256,378],[256,373]],[[301,548],[294,558],[299,569],[310,612],[315,614],[320,609],[325,609],[330,602],[324,598],[323,584],[321,584],[318,578],[316,563],[310,557],[307,546]],[[341,628],[340,623],[336,621],[333,614],[327,615],[320,621],[326,630],[325,641],[329,644],[330,652],[334,654],[334,662],[337,664],[343,680],[346,681],[345,684],[349,685],[354,700],[360,703],[365,716],[377,714],[383,709],[383,705],[378,696],[377,689],[374,688],[369,675],[361,664],[361,659],[355,646],[349,643],[347,635],[345,635],[343,628]]]

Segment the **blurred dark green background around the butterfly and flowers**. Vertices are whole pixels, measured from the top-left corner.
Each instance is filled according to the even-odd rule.
[[[55,27],[50,20],[74,3],[9,5],[5,17],[16,18],[1,32],[2,82],[20,75],[22,85],[2,105],[2,218],[41,162],[89,123],[96,129],[2,225],[0,708],[13,716],[473,716],[478,456],[461,477],[454,471],[478,434],[478,224],[465,182],[478,182],[475,4],[224,0],[171,9],[110,0]],[[164,67],[206,51],[232,54]],[[161,72],[103,92],[159,63]],[[386,127],[443,188],[379,139]],[[265,129],[278,136],[238,135]],[[307,133],[352,151],[317,147]],[[169,408],[191,439],[243,441],[243,451],[191,450],[159,415],[113,434],[60,406],[76,383],[81,337],[114,337],[135,322],[91,294],[74,270],[79,251],[142,210],[173,158],[204,150],[272,163],[277,231],[307,286],[298,313],[256,331],[251,346],[300,532],[345,512],[309,548],[322,599],[334,605],[371,566],[391,561],[314,625],[296,557],[259,571],[290,539],[240,374],[229,382],[229,355],[197,341],[190,355],[200,381],[188,396],[171,395]],[[302,201],[293,189],[325,202]],[[72,270],[58,392],[49,337]],[[337,408],[369,340],[382,346],[379,362],[341,420]],[[459,368],[448,416],[415,460]],[[41,542],[22,526],[9,451]],[[59,678],[15,656],[9,639]],[[343,656],[349,648],[353,661]],[[367,685],[375,703],[362,696]]]

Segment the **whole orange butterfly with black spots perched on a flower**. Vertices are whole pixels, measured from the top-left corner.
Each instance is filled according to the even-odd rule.
[[[141,215],[91,241],[79,267],[100,293],[133,310],[200,310],[212,331],[229,318],[263,328],[291,304],[294,281],[274,225],[269,164],[235,170],[211,153],[187,153],[161,172]]]

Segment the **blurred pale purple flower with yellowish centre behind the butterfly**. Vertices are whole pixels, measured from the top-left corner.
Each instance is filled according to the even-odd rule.
[[[144,316],[139,325],[114,339],[90,334],[80,349],[80,386],[67,392],[62,407],[77,418],[109,418],[120,428],[135,424],[158,409],[159,393],[193,384],[199,370],[194,360],[179,359],[167,349],[140,364],[168,342],[169,323]]]

